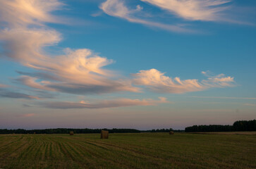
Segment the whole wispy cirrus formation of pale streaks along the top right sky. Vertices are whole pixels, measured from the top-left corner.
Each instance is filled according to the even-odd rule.
[[[254,21],[245,21],[236,13],[238,6],[233,6],[232,0],[140,0],[151,6],[160,8],[160,18],[169,19],[159,21],[156,15],[150,15],[142,4],[130,7],[126,0],[106,0],[99,8],[107,15],[123,18],[130,23],[139,23],[148,27],[157,27],[171,32],[200,33],[202,30],[193,28],[191,21],[225,22],[243,25],[255,25]],[[241,9],[240,9],[241,10]],[[152,9],[151,9],[152,11]],[[166,12],[167,11],[167,12]],[[242,10],[243,11],[243,10]],[[247,13],[243,11],[243,14]],[[250,15],[247,13],[246,15]],[[174,17],[175,18],[174,18]],[[172,18],[172,19],[170,19]],[[156,21],[157,20],[157,21]],[[188,22],[189,21],[189,22]]]

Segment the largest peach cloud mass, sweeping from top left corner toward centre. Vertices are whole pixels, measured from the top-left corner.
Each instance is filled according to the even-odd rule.
[[[90,49],[63,49],[60,55],[48,54],[47,47],[61,41],[61,34],[44,23],[58,23],[51,11],[61,8],[57,0],[0,2],[0,30],[3,54],[13,61],[37,70],[23,73],[17,82],[28,87],[72,94],[139,92],[130,80],[116,79],[114,71],[103,67],[114,61]],[[15,15],[17,17],[15,17]]]

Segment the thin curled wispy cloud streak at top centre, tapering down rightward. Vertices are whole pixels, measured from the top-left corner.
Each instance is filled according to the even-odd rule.
[[[108,15],[123,18],[131,23],[140,23],[142,25],[158,27],[162,30],[169,30],[172,32],[195,32],[193,30],[188,30],[187,28],[182,27],[181,25],[157,23],[136,17],[135,14],[140,13],[140,11],[142,11],[142,7],[138,5],[136,6],[135,9],[129,9],[121,0],[107,0],[101,4],[100,8],[102,9],[102,11],[104,11],[104,13]]]

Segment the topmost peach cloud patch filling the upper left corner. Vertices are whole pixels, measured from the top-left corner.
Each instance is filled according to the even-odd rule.
[[[51,15],[51,11],[56,11],[61,6],[63,4],[58,0],[0,1],[0,20],[15,27],[56,23],[60,18]]]

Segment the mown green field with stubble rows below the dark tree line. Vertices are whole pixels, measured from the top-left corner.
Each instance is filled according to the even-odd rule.
[[[253,134],[2,134],[0,168],[256,168]]]

